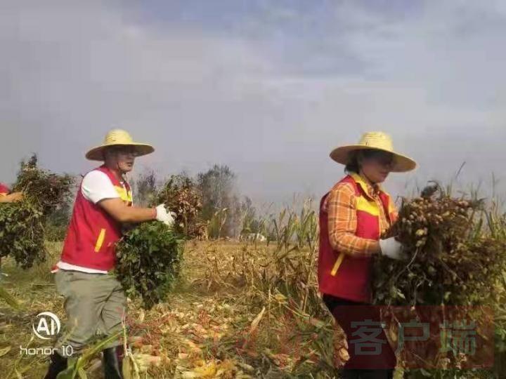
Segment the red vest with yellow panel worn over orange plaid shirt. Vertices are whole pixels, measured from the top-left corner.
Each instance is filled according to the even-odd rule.
[[[365,239],[380,239],[380,208],[372,199],[365,182],[356,174],[347,175],[341,182],[353,185],[356,195],[356,236]],[[335,251],[330,246],[328,215],[323,209],[328,193],[320,201],[320,253],[318,256],[318,286],[321,293],[356,302],[371,301],[371,257],[352,257]],[[392,221],[394,210],[390,198],[380,191],[385,214]]]

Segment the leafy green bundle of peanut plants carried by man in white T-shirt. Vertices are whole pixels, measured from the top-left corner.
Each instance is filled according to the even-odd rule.
[[[155,204],[176,213],[174,225],[145,222],[124,234],[116,246],[115,272],[126,293],[150,309],[163,302],[179,277],[183,244],[198,229],[200,197],[193,182],[173,175],[155,194]]]

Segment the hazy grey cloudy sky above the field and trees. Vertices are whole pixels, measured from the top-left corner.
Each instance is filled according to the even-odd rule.
[[[505,42],[500,0],[1,1],[0,180],[31,152],[85,173],[120,127],[155,145],[137,171],[228,164],[255,201],[290,201],[382,130],[419,164],[394,194],[463,162],[506,192]]]

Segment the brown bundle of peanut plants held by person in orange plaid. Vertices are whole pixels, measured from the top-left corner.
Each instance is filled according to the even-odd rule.
[[[439,185],[403,199],[389,235],[407,261],[380,257],[375,264],[375,303],[387,305],[484,305],[506,265],[506,241],[484,231],[483,201],[455,199]],[[384,236],[387,237],[387,236]]]

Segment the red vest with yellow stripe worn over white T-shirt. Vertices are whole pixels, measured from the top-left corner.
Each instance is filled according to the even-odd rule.
[[[125,182],[123,187],[114,173],[105,166],[100,166],[95,171],[108,175],[119,197],[127,206],[132,205],[128,183]],[[112,270],[116,261],[115,244],[120,238],[121,224],[98,204],[86,199],[79,186],[61,261],[96,270]]]

